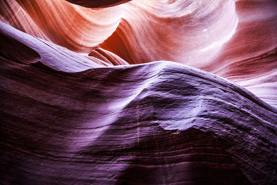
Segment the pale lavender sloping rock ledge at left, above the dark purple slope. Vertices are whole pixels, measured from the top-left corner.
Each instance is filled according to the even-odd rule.
[[[84,71],[107,65],[103,60],[94,57],[88,58],[62,46],[33,37],[1,21],[0,34],[2,36],[1,53],[6,53],[6,55],[2,55],[8,59],[20,58],[21,61],[19,62],[28,63],[28,58],[33,58],[33,55],[36,55],[37,60],[39,59],[43,64],[47,64],[55,70],[66,72]]]

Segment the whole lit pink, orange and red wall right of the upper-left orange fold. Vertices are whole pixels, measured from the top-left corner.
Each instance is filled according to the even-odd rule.
[[[137,0],[125,8],[103,49],[131,64],[171,60],[210,71],[277,107],[276,1]]]

